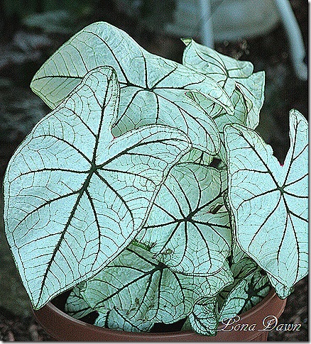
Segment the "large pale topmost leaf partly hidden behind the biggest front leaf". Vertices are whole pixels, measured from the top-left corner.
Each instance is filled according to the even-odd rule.
[[[231,101],[217,82],[146,52],[108,23],[91,24],[62,45],[33,77],[31,88],[53,108],[84,74],[101,65],[114,67],[121,84],[115,136],[146,124],[165,124],[187,133],[194,147],[218,152],[214,122],[185,95],[185,90],[197,89],[230,113]]]

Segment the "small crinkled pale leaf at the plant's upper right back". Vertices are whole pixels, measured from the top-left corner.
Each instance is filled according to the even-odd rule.
[[[243,96],[247,109],[245,125],[256,128],[259,112],[263,106],[264,72],[252,74],[251,62],[222,55],[196,43],[195,40],[184,40],[184,43],[187,47],[182,59],[183,64],[214,79],[227,92],[231,101],[234,92],[238,90]]]

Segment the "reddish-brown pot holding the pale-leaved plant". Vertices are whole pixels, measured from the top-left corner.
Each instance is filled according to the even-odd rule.
[[[55,303],[55,302],[54,302]],[[285,308],[286,300],[281,300],[271,291],[263,301],[241,315],[239,321],[219,326],[216,336],[199,335],[192,331],[166,333],[131,333],[110,330],[84,323],[60,311],[52,302],[34,315],[45,331],[55,340],[61,341],[121,341],[121,342],[213,342],[213,341],[266,341],[268,331],[260,331],[266,316],[278,318]],[[239,325],[240,324],[240,325]],[[248,324],[249,326],[241,324]],[[251,330],[251,331],[247,331]]]

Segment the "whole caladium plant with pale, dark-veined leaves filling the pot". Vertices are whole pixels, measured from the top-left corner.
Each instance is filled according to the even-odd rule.
[[[255,129],[263,72],[186,44],[182,65],[94,23],[31,88],[52,111],[4,179],[6,238],[34,309],[204,335],[307,274],[307,121],[284,165]]]

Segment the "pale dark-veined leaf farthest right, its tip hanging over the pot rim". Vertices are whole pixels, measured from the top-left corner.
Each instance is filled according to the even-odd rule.
[[[273,277],[274,287],[278,281],[289,291],[308,266],[307,121],[290,111],[290,150],[284,166],[250,129],[226,126],[224,138],[236,240]],[[283,290],[279,296],[286,294]]]

